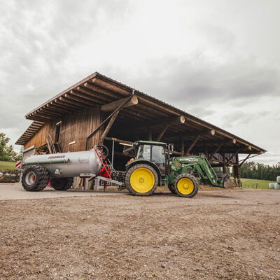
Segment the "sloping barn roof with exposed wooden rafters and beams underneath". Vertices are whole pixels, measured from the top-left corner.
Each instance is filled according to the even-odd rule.
[[[24,145],[43,123],[59,120],[62,116],[71,116],[73,113],[91,106],[104,105],[123,99],[130,96],[133,90],[132,87],[95,72],[27,113],[25,118],[34,120],[34,123],[27,128],[15,144]],[[227,153],[265,152],[263,148],[139,90],[134,90],[134,95],[138,97],[139,103],[137,106],[127,107],[120,111],[116,123],[112,127],[112,136],[115,133],[127,135],[127,140],[139,139],[141,135],[147,133],[148,125],[151,125],[153,134],[160,134],[165,121],[181,117],[185,118],[185,123],[172,124],[167,127],[162,141],[179,146],[179,139],[184,139],[185,143],[191,144],[197,139],[197,135],[200,135],[194,148],[197,153],[202,152],[206,144],[212,151],[223,144]],[[132,134],[137,135],[137,138]]]

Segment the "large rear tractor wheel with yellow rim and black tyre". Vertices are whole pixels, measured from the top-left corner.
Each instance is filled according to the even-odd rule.
[[[152,195],[158,186],[158,174],[150,165],[134,165],[125,174],[125,186],[132,195]]]

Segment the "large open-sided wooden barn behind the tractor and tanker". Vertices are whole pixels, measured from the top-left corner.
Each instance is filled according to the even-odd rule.
[[[105,144],[114,153],[114,166],[123,169],[130,160],[123,151],[133,141],[153,140],[174,144],[174,156],[207,156],[211,165],[239,167],[252,156],[265,153],[230,132],[196,118],[139,90],[100,73],[57,94],[25,116],[33,123],[15,144],[24,157],[35,153],[85,151]],[[246,155],[239,160],[239,155]]]

